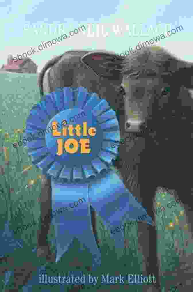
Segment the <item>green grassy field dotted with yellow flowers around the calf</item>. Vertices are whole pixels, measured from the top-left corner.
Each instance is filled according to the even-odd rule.
[[[41,171],[32,166],[31,158],[27,155],[26,147],[13,147],[13,142],[22,140],[22,133],[25,130],[25,120],[34,104],[39,102],[39,89],[36,82],[36,74],[0,74],[2,112],[0,120],[0,230],[4,231],[4,224],[7,220],[10,229],[27,225],[38,221],[40,206],[39,195],[41,191]],[[6,148],[3,148],[6,147]],[[8,164],[8,165],[7,165]],[[28,167],[29,166],[29,167]],[[23,170],[25,171],[23,172]],[[189,290],[192,277],[191,256],[192,243],[189,240],[185,214],[180,204],[168,208],[167,204],[174,198],[157,190],[157,229],[158,229],[158,252],[161,258],[162,292],[168,291],[177,283],[182,282],[185,291]],[[161,208],[161,206],[165,207]],[[113,248],[113,241],[110,238],[110,230],[105,230],[100,216],[98,216],[98,232],[102,247],[102,266],[98,275],[111,274],[142,274],[143,259],[137,249],[137,230],[131,227],[126,230],[125,239],[127,247],[123,251],[121,260],[117,260],[117,251]],[[27,228],[21,233],[14,234],[14,240],[19,240],[20,246],[11,248],[8,242],[1,241],[1,255],[12,253],[18,263],[24,258],[35,261],[32,249],[36,247],[36,227]],[[49,238],[55,237],[55,231],[51,228]],[[90,257],[85,250],[78,253],[81,243],[74,241],[72,248],[62,257],[59,263],[47,264],[48,275],[64,275],[72,270],[72,261],[78,258],[85,266],[89,266]],[[54,249],[54,246],[52,246]],[[183,262],[187,262],[183,265]],[[192,260],[193,262],[193,260]],[[84,271],[84,274],[88,274]],[[97,274],[96,274],[97,275]],[[100,277],[99,277],[100,279]],[[11,278],[12,281],[12,278]],[[167,282],[167,290],[165,289]],[[168,288],[169,285],[169,288]],[[60,285],[48,286],[48,291],[61,291]],[[62,285],[62,291],[69,291],[71,286]],[[92,289],[97,291],[142,291],[141,285],[86,285],[85,291]],[[181,290],[180,290],[181,289]],[[4,277],[1,277],[0,291],[4,290]],[[34,286],[34,291],[41,291],[41,285]],[[171,291],[182,291],[177,288]]]

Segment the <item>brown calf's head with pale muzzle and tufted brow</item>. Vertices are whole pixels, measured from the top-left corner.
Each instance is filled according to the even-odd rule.
[[[193,65],[154,46],[128,56],[123,64],[125,131],[140,136],[160,129],[159,134],[172,135],[180,125],[182,104],[190,98],[186,88],[193,88]]]

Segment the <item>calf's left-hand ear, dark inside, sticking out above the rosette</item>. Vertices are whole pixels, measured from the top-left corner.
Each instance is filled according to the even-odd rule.
[[[122,81],[122,59],[111,52],[91,52],[81,57],[81,62],[97,76],[112,81]]]

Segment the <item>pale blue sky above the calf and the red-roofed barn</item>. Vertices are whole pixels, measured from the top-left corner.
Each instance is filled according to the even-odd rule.
[[[128,2],[130,2],[128,4]],[[30,47],[37,49],[41,42],[69,35],[69,31],[81,25],[91,27],[52,45],[30,58],[38,65],[38,71],[55,55],[71,49],[106,49],[116,53],[134,48],[139,41],[149,41],[166,30],[182,25],[184,30],[159,42],[178,58],[192,61],[192,1],[40,1],[24,2],[0,0],[1,7],[1,60],[6,64],[8,54],[14,57]],[[58,25],[60,24],[60,31]],[[96,33],[98,25],[98,35]],[[102,34],[102,25],[105,33]],[[40,28],[42,26],[42,28]],[[121,30],[117,30],[117,26]],[[133,28],[135,26],[135,28]],[[4,28],[4,29],[3,29]],[[168,29],[167,29],[168,28]],[[93,32],[95,35],[92,36]]]

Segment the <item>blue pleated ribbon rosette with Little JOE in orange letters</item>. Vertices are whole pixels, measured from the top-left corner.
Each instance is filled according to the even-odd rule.
[[[56,262],[76,237],[92,254],[93,268],[100,266],[91,208],[107,227],[122,229],[112,232],[120,249],[124,248],[122,221],[147,214],[111,168],[118,154],[112,144],[120,141],[115,112],[86,88],[64,87],[32,108],[25,132],[34,137],[27,143],[33,164],[51,178]],[[152,222],[148,215],[145,220]]]

